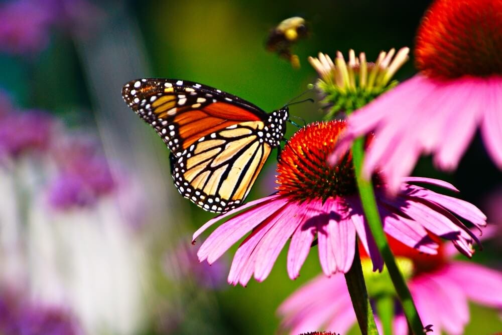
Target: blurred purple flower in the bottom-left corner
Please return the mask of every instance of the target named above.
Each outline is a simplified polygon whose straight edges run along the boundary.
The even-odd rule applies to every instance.
[[[2,335],[77,335],[81,330],[61,306],[29,302],[13,292],[0,293]]]

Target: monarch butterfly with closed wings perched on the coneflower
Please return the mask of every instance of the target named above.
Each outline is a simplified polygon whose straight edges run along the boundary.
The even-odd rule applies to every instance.
[[[180,194],[204,210],[242,204],[286,132],[288,107],[267,114],[209,86],[176,79],[137,79],[122,88],[126,104],[171,150]]]

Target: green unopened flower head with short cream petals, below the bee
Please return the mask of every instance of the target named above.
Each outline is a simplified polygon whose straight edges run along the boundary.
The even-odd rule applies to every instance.
[[[326,119],[338,112],[349,114],[396,86],[397,82],[391,79],[408,60],[408,53],[408,48],[397,54],[394,49],[381,52],[375,63],[367,62],[364,53],[355,57],[353,50],[349,51],[348,63],[339,51],[334,62],[322,53],[317,58],[309,57],[320,77],[315,86],[329,106]]]

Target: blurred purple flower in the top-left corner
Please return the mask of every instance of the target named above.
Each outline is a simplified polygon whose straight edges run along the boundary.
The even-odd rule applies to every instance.
[[[33,54],[49,43],[52,16],[40,2],[10,1],[0,7],[0,51]]]

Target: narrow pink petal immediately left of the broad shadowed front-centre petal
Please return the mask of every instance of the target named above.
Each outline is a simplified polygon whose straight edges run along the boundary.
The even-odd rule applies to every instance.
[[[300,275],[302,267],[310,247],[315,238],[316,225],[312,224],[314,210],[312,204],[305,204],[307,207],[305,213],[300,218],[300,224],[293,233],[288,251],[288,274],[291,279],[295,279]],[[314,205],[315,206],[315,205]],[[317,206],[322,207],[322,204]]]

